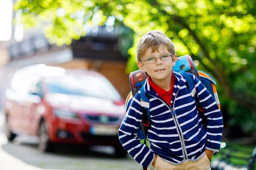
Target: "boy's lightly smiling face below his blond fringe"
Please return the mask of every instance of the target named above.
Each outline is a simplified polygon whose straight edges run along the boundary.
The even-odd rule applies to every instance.
[[[148,64],[146,61],[143,61],[151,57],[162,57],[170,55],[167,47],[164,45],[160,45],[158,51],[156,50],[154,53],[152,53],[152,49],[148,48],[142,58],[142,62],[137,62],[140,70],[142,70],[144,73],[147,72],[154,83],[163,81],[165,79],[171,79],[172,67],[177,61],[177,55],[171,56],[170,59],[165,61],[162,61],[160,58],[156,58],[156,61],[150,64]]]

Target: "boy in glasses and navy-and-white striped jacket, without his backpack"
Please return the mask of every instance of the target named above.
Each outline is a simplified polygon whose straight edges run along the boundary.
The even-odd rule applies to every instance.
[[[118,135],[122,146],[144,167],[156,170],[210,170],[223,131],[222,115],[212,95],[192,74],[196,94],[207,116],[207,127],[179,73],[172,70],[177,55],[172,41],[160,31],[149,31],[137,45],[137,65],[146,75],[151,124],[140,144],[137,129],[143,119],[140,91],[132,99]],[[149,168],[148,168],[149,169]]]

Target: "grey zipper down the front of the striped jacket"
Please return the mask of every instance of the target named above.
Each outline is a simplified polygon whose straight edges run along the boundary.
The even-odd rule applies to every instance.
[[[180,91],[180,89],[177,91],[177,93]],[[175,99],[176,99],[176,96],[177,96],[177,93],[176,93],[176,95],[175,95],[175,98],[174,98],[174,102],[173,102],[173,106],[174,106],[174,103],[175,103]],[[151,95],[151,94],[149,94],[150,96],[153,96],[153,95]],[[155,97],[155,96],[153,96],[153,97]],[[166,104],[166,102],[164,102],[162,99],[160,99],[160,98],[158,98],[157,97],[157,99],[159,99],[161,102],[163,102],[163,104],[165,104],[168,108],[170,108],[167,104]],[[172,111],[175,111],[173,108],[171,108],[170,109],[170,111],[171,111],[171,113],[172,113]],[[182,148],[182,153],[183,153],[183,156],[184,156],[184,158],[185,158],[185,160],[186,159],[188,159],[187,158],[187,153],[186,153],[186,147],[185,147],[185,144],[184,144],[184,139],[183,139],[183,135],[182,135],[182,133],[181,133],[181,130],[180,130],[180,126],[178,126],[178,120],[177,120],[177,116],[176,116],[176,113],[175,113],[175,115],[172,115],[172,117],[173,117],[173,121],[174,121],[174,123],[175,123],[175,126],[176,126],[176,129],[177,129],[177,133],[178,133],[178,135],[179,135],[179,138],[180,138],[180,143],[181,143],[181,148]]]

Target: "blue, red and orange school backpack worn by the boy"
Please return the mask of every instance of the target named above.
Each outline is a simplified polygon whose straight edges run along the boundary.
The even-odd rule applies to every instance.
[[[218,94],[215,88],[215,85],[216,85],[215,80],[204,71],[198,71],[195,67],[195,64],[192,58],[189,55],[177,57],[177,62],[173,67],[173,70],[175,72],[180,73],[183,76],[183,78],[186,79],[185,85],[188,88],[189,93],[195,100],[195,104],[198,108],[198,112],[201,115],[203,125],[207,126],[207,117],[203,114],[204,108],[200,105],[200,102],[198,101],[198,96],[195,95],[196,93],[195,85],[191,76],[188,73],[194,74],[195,77],[197,77],[203,83],[203,85],[207,88],[210,94],[212,94],[213,98],[215,99],[215,102],[218,104],[220,108],[220,102],[219,102]],[[137,131],[137,136],[140,139],[145,139],[145,136],[147,136],[148,126],[150,125],[150,122],[151,122],[150,115],[149,115],[149,97],[144,92],[144,83],[147,79],[147,76],[145,76],[143,71],[137,70],[137,71],[131,72],[129,79],[130,79],[131,92],[127,96],[127,99],[125,102],[125,108],[127,111],[129,106],[131,105],[131,99],[133,98],[133,96],[135,96],[137,92],[140,89],[142,89],[140,91],[140,103],[143,111],[143,121],[140,123],[140,127]],[[146,142],[144,141],[144,143]]]

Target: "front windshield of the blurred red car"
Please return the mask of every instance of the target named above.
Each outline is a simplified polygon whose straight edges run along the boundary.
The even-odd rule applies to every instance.
[[[61,77],[48,77],[46,83],[50,93],[120,100],[119,93],[105,77],[66,74]]]

